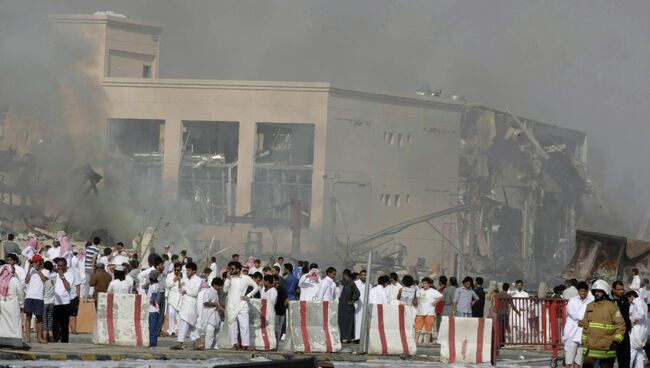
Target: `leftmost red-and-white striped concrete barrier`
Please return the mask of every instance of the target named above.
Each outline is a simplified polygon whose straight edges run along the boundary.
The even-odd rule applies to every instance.
[[[92,342],[149,346],[149,303],[142,295],[100,293]]]

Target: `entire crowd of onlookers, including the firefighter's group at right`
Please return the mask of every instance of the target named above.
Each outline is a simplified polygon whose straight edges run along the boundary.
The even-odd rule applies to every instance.
[[[256,298],[274,308],[278,340],[287,333],[290,301],[337,301],[344,343],[359,342],[363,311],[372,304],[413,307],[415,339],[424,344],[432,342],[442,316],[481,318],[488,312],[506,321],[501,324],[507,329],[501,331],[501,342],[517,342],[518,334],[529,333],[530,327],[530,318],[517,317],[532,315],[530,303],[537,303],[528,300],[522,280],[512,289],[503,283],[487,291],[481,277],[465,277],[459,284],[455,277],[417,280],[390,273],[373,283],[365,270],[345,269],[339,277],[334,267],[321,273],[318,264],[309,261],[291,263],[278,257],[264,264],[248,257],[242,262],[238,254],[221,268],[212,257],[209,266],[199,269],[185,250],[173,254],[166,246],[157,254],[151,249],[141,260],[122,243],[102,247],[99,238],[75,249],[64,232],[48,245],[31,235],[23,247],[10,234],[2,251],[0,331],[25,342],[31,342],[32,330],[39,343],[68,342],[69,333],[76,333],[80,299],[97,303],[100,293],[145,296],[150,345],[156,346],[159,336],[173,336],[177,344],[172,349],[177,350],[186,348],[188,337],[193,349],[216,348],[223,324],[229,327],[232,349],[250,349],[249,300]],[[616,359],[619,366],[641,367],[643,350],[648,349],[649,287],[637,269],[631,270],[627,288],[621,281],[610,287],[603,280],[590,285],[575,279],[556,286],[553,296],[567,300],[562,336],[567,367],[593,366],[596,361],[607,367]],[[517,300],[526,301],[526,307]]]

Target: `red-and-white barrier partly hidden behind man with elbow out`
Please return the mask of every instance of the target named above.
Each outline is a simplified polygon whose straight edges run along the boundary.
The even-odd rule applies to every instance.
[[[248,324],[251,347],[255,350],[270,351],[277,348],[275,336],[275,308],[266,299],[250,299],[248,301]],[[219,349],[230,349],[230,324],[221,325],[217,337]]]

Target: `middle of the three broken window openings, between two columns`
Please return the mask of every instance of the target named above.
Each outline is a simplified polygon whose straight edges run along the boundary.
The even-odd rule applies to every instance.
[[[238,149],[237,122],[183,122],[179,199],[191,203],[196,222],[235,214]]]

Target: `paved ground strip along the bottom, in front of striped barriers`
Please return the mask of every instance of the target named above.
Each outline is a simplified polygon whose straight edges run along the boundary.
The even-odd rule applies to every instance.
[[[31,344],[30,351],[0,350],[0,366],[11,367],[186,367],[192,365],[218,366],[219,364],[250,360],[283,360],[304,357],[305,354],[283,352],[234,352],[227,350],[175,351],[173,338],[161,338],[156,348],[93,345],[90,334],[71,335],[69,344]],[[355,345],[346,345],[340,353],[312,354],[324,366],[342,368],[385,367],[400,368],[448,366],[439,362],[439,348],[418,348],[417,356],[402,358],[357,354]],[[551,356],[534,350],[503,350],[499,366],[535,367],[549,366]],[[31,362],[30,362],[31,361]],[[399,363],[397,362],[399,361]],[[74,362],[74,363],[73,363]],[[85,363],[84,363],[85,362]],[[133,365],[131,365],[133,364]],[[463,365],[457,365],[463,367]]]

